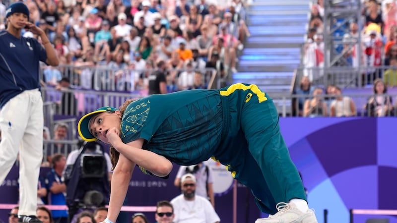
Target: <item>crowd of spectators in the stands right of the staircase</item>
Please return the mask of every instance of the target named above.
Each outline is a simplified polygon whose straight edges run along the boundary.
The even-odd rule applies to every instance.
[[[329,43],[330,39],[334,43],[332,54],[340,55],[331,65],[344,68],[337,71],[324,65],[324,19],[330,19],[324,17],[324,1],[316,0],[310,4],[303,68],[298,78],[300,83],[294,91],[297,96],[293,99],[294,115],[353,116],[358,112],[361,115],[390,116],[396,113],[397,104],[394,105],[394,96],[388,95],[387,89],[397,87],[397,1],[361,0],[361,3],[361,18],[352,14],[347,21],[346,18],[330,21],[333,32],[328,38]],[[325,83],[328,78],[325,75],[337,76],[341,72],[350,75],[346,83],[340,86]],[[316,83],[317,88],[308,84],[311,82]],[[357,105],[362,102],[355,97],[344,96],[340,102],[335,101],[337,95],[352,83],[354,88],[366,88],[373,96],[367,94],[366,101]],[[309,99],[302,97],[304,95]],[[339,105],[340,112],[333,111],[335,105]]]

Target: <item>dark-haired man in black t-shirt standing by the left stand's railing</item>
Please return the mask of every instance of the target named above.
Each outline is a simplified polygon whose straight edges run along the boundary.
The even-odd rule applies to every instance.
[[[167,82],[165,77],[165,62],[160,60],[157,63],[157,70],[149,76],[149,95],[166,94]]]

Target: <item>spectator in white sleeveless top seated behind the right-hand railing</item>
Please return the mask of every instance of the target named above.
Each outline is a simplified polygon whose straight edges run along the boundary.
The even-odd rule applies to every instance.
[[[338,87],[334,87],[334,94],[336,99],[331,103],[331,116],[333,117],[349,117],[355,116],[356,106],[354,105],[353,99],[347,96],[342,96],[342,90]]]

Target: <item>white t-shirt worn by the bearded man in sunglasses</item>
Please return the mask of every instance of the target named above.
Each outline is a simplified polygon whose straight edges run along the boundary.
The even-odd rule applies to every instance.
[[[174,207],[174,223],[215,223],[219,216],[209,201],[196,195],[195,200],[187,201],[181,194],[171,200]]]

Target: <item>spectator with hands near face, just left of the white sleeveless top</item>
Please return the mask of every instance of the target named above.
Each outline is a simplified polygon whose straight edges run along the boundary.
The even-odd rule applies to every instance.
[[[303,116],[305,117],[319,117],[327,116],[328,108],[324,102],[323,89],[315,88],[313,91],[313,98],[306,99],[303,107]]]

